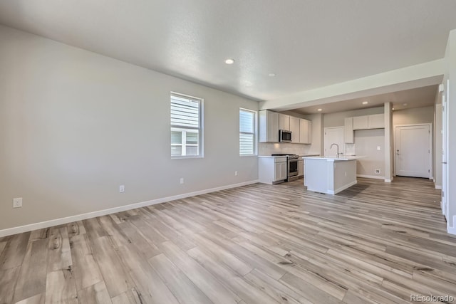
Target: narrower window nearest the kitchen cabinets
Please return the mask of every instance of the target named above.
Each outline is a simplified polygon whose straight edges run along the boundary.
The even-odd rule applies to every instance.
[[[257,112],[239,108],[239,155],[257,154]]]

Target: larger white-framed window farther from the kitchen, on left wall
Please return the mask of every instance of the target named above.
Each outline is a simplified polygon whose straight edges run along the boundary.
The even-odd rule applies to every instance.
[[[171,93],[171,157],[202,157],[202,99]]]

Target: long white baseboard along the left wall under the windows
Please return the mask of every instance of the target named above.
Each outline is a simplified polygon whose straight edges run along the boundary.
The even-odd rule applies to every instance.
[[[199,190],[199,191],[195,191],[195,192],[178,194],[178,195],[175,195],[175,196],[167,196],[167,197],[163,197],[161,199],[152,199],[150,201],[142,201],[140,203],[129,204],[129,205],[118,206],[118,207],[114,207],[114,208],[110,208],[110,209],[103,209],[103,210],[99,210],[99,211],[88,212],[86,214],[78,214],[78,215],[63,217],[61,219],[51,219],[49,221],[41,221],[39,223],[33,223],[33,224],[24,225],[24,226],[18,226],[18,227],[3,229],[3,230],[0,230],[0,237],[11,236],[12,234],[21,234],[23,232],[33,231],[33,230],[36,230],[36,229],[43,229],[43,228],[48,228],[48,227],[52,227],[52,226],[68,224],[68,223],[72,223],[73,221],[81,221],[83,219],[91,219],[91,218],[97,217],[97,216],[103,216],[103,215],[107,215],[107,214],[114,214],[114,213],[117,213],[117,212],[120,212],[120,211],[136,209],[136,208],[140,208],[140,207],[144,207],[144,206],[151,206],[151,205],[155,205],[155,204],[164,203],[165,201],[174,201],[176,199],[185,199],[185,198],[190,197],[190,196],[196,196],[196,195],[200,195],[200,194],[207,194],[207,193],[210,193],[210,192],[216,192],[216,191],[221,191],[221,190],[225,190],[225,189],[242,187],[242,186],[246,186],[248,184],[255,184],[257,182],[259,182],[259,180],[254,180],[254,181],[249,181],[249,182],[242,182],[242,183],[239,183],[239,184],[229,184],[227,186],[222,186],[222,187],[204,189],[204,190]]]

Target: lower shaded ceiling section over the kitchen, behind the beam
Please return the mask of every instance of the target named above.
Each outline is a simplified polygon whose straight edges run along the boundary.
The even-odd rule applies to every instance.
[[[422,88],[401,90],[394,93],[372,95],[368,98],[355,98],[351,100],[338,101],[337,103],[326,103],[324,105],[312,105],[306,108],[294,110],[301,114],[333,113],[363,108],[375,108],[383,106],[384,103],[392,103],[394,110],[410,108],[421,108],[434,105],[438,85],[428,85]],[[367,104],[363,105],[364,102]],[[321,109],[321,111],[318,111]]]

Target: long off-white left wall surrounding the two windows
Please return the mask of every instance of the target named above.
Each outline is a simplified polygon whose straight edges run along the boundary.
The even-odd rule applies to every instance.
[[[204,98],[202,159],[170,158],[170,91]],[[239,107],[258,103],[0,26],[0,230],[256,180]]]

